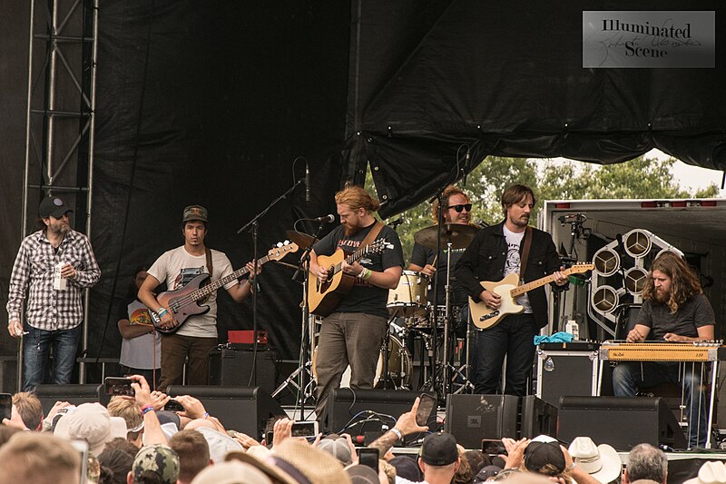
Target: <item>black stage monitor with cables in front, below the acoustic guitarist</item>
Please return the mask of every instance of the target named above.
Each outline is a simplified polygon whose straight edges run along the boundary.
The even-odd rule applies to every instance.
[[[384,424],[393,427],[402,413],[411,410],[419,391],[407,390],[354,390],[334,389],[330,392],[322,431],[347,432],[351,436],[366,432],[380,433]],[[436,397],[436,395],[431,394]],[[436,407],[431,410],[427,421],[431,430],[436,427]],[[407,436],[407,440],[417,440],[417,435]]]

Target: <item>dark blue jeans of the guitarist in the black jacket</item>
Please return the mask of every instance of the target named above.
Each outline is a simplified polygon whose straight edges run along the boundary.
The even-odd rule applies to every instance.
[[[510,314],[494,328],[476,331],[474,391],[491,395],[501,387],[506,355],[505,395],[525,396],[535,361],[535,317]]]

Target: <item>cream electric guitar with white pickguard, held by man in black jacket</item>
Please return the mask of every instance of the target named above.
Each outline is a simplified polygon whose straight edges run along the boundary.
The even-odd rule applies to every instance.
[[[565,275],[574,273],[583,273],[592,271],[594,264],[587,262],[578,262],[569,269],[562,271]],[[537,279],[533,282],[526,282],[525,284],[519,285],[519,274],[512,273],[506,276],[499,282],[481,282],[482,287],[486,291],[496,292],[501,296],[502,304],[497,309],[491,309],[486,307],[484,301],[475,302],[469,298],[469,311],[471,312],[472,321],[477,328],[486,330],[495,326],[502,318],[509,314],[517,314],[522,312],[525,308],[516,303],[516,298],[521,296],[527,291],[532,291],[538,287],[544,286],[554,282],[554,274],[544,276],[542,279]]]

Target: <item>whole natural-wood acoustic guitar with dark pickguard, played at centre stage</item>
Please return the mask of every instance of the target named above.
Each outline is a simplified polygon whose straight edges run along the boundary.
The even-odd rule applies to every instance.
[[[393,249],[393,244],[384,239],[378,239],[370,245],[361,247],[348,257],[346,257],[346,252],[340,248],[333,255],[319,255],[318,265],[328,267],[328,279],[320,282],[316,275],[310,273],[311,277],[308,279],[309,311],[317,316],[328,316],[338,306],[340,298],[348,294],[353,287],[356,278],[342,271],[343,261],[352,264],[368,254],[383,252],[386,249]]]

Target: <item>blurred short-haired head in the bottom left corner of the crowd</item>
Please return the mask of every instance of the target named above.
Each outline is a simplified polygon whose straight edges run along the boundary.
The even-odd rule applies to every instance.
[[[78,484],[81,456],[49,433],[16,432],[0,447],[0,483]]]

